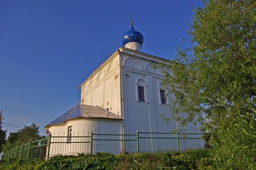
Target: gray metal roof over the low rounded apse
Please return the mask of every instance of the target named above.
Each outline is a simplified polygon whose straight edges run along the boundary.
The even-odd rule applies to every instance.
[[[46,125],[57,125],[62,124],[68,119],[74,118],[108,118],[108,119],[122,119],[120,116],[117,116],[111,112],[109,112],[109,116],[107,116],[106,109],[100,108],[100,106],[91,106],[91,105],[81,105],[77,104],[69,111],[65,112],[65,114],[61,115],[50,124]]]

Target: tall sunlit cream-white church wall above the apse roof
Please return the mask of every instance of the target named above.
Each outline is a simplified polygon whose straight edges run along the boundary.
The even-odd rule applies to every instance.
[[[81,104],[109,108],[121,116],[120,56],[104,63],[81,88]]]

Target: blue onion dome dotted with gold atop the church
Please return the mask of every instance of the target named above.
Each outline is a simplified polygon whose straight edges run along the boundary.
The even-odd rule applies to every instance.
[[[136,31],[133,28],[133,25],[132,25],[132,28],[128,32],[124,33],[122,37],[123,45],[126,45],[129,42],[137,42],[140,45],[142,45],[143,41],[144,41],[143,35],[140,32]]]

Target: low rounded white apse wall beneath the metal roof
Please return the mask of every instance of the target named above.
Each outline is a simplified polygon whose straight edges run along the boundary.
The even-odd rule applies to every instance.
[[[72,142],[76,143],[67,143],[68,126],[72,126]],[[78,118],[67,121],[65,122],[65,124],[60,126],[51,126],[49,128],[49,131],[52,134],[50,156],[90,153],[91,132],[93,132],[93,134],[121,134],[122,120],[102,118]],[[109,138],[121,139],[121,136],[94,135],[94,139]],[[122,144],[120,141],[93,141],[93,152],[99,151],[120,153],[122,151]]]

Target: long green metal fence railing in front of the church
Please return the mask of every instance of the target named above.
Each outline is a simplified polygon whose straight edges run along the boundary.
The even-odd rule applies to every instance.
[[[139,132],[136,134],[97,134],[52,136],[29,141],[2,155],[7,158],[46,158],[55,155],[94,154],[96,152],[185,151],[205,148],[205,134]]]

